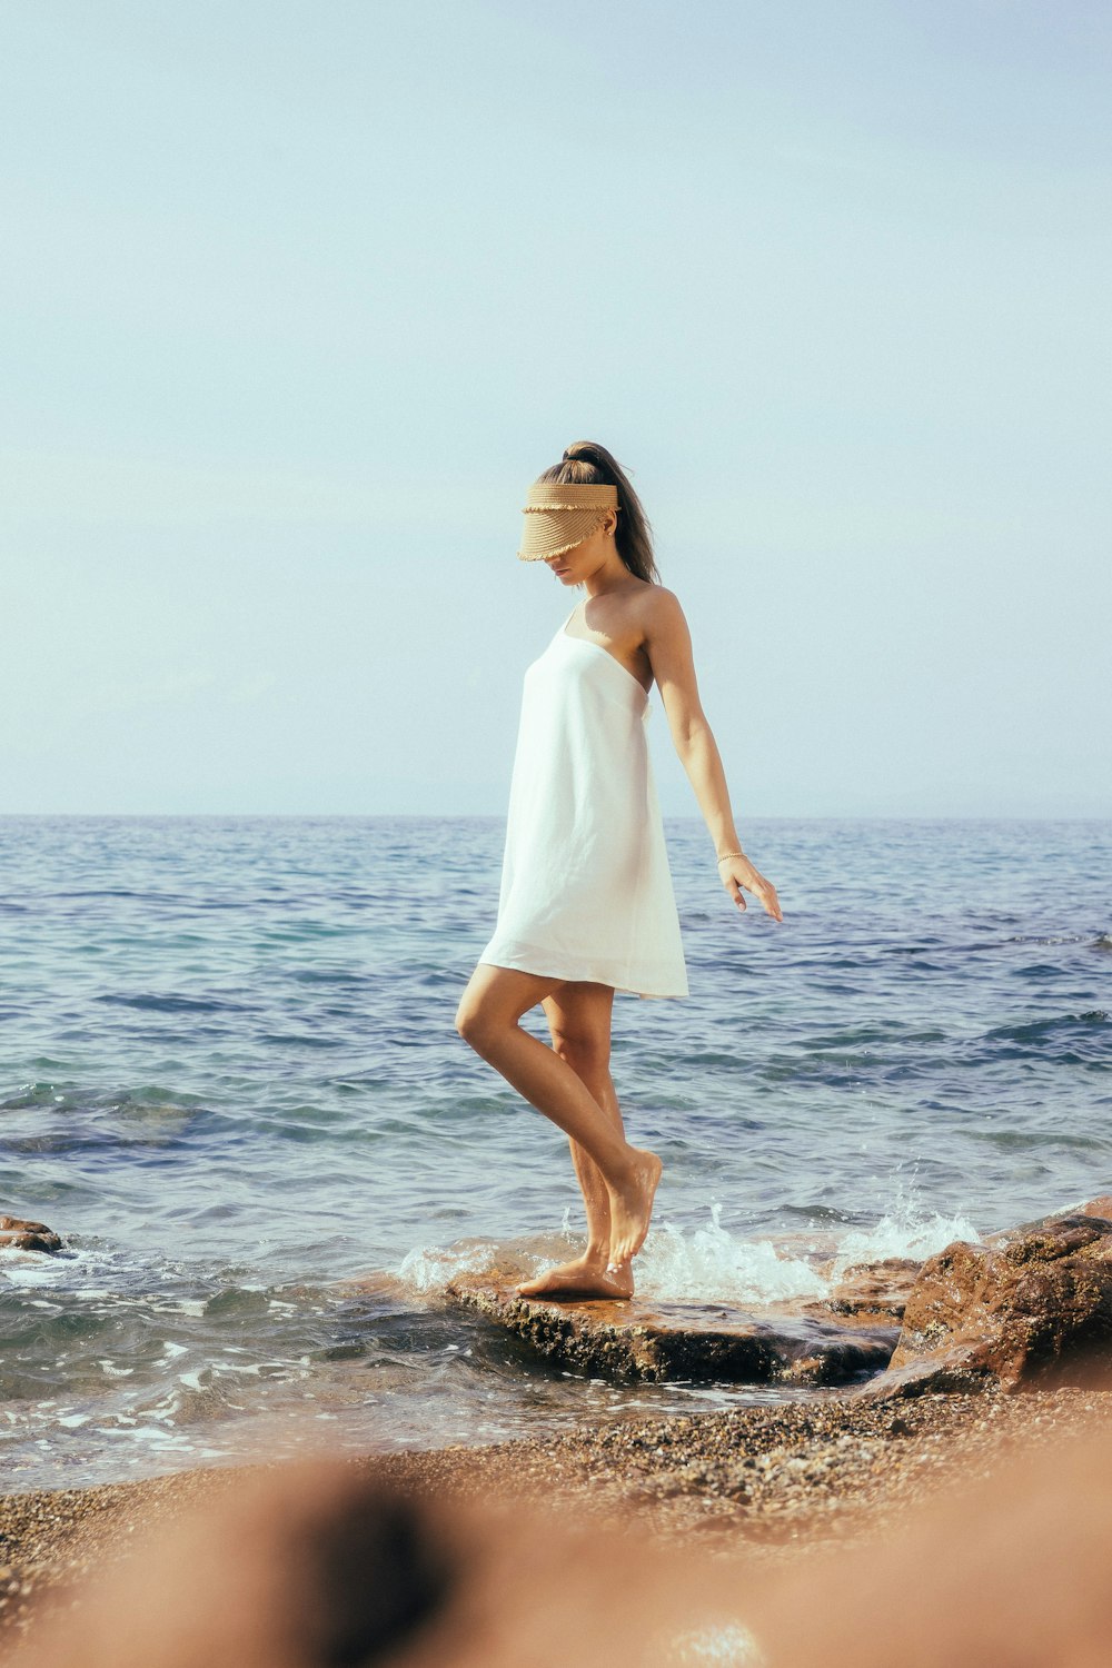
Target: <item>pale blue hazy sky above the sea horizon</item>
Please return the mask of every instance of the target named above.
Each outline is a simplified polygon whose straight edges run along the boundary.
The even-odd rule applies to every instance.
[[[747,814],[1112,814],[1112,10],[0,5],[0,809],[502,812],[635,472]],[[664,714],[665,811],[695,814]]]

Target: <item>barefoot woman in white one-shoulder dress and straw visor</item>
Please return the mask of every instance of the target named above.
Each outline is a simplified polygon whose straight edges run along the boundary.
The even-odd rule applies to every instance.
[[[630,1298],[660,1159],[625,1139],[610,1079],[614,992],[687,996],[644,732],[654,681],[722,884],[739,909],[749,891],[775,921],[782,914],[740,849],[684,610],[660,585],[645,514],[604,447],[580,440],[538,475],[518,555],[582,585],[587,600],[525,674],[498,922],[455,1024],[567,1133],[587,1206],[584,1253],[517,1289]],[[552,1048],[518,1024],[537,1002]]]

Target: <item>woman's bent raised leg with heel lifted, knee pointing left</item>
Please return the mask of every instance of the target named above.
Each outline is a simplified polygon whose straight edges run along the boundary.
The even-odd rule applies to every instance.
[[[460,999],[455,1027],[500,1071],[518,1094],[584,1148],[602,1174],[610,1206],[610,1261],[620,1266],[640,1251],[660,1181],[655,1153],[632,1148],[587,1084],[518,1021],[565,984],[512,967],[480,962]]]

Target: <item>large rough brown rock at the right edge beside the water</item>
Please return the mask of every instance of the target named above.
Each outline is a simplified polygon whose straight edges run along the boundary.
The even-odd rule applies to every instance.
[[[1085,1386],[1112,1373],[1112,1199],[929,1258],[869,1396]]]

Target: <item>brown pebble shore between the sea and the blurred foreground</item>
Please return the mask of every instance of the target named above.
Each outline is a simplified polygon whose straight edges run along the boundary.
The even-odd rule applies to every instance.
[[[522,1500],[577,1521],[692,1536],[714,1555],[784,1561],[867,1541],[947,1481],[1104,1424],[1112,1391],[829,1398],[694,1418],[639,1419],[547,1438],[353,1460],[418,1493]],[[95,1576],[137,1536],[202,1501],[242,1468],[0,1498],[0,1626],[25,1630],[60,1586]]]

